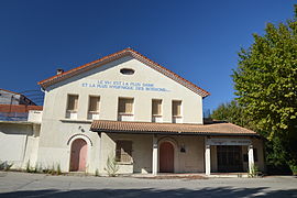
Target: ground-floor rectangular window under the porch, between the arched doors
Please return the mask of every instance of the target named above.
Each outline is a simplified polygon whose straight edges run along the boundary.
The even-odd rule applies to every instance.
[[[132,141],[117,141],[116,161],[132,163]]]

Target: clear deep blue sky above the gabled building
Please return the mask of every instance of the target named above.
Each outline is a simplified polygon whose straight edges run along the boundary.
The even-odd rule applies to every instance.
[[[1,0],[0,88],[37,81],[132,47],[211,92],[205,109],[234,98],[240,47],[267,22],[294,15],[293,0]]]

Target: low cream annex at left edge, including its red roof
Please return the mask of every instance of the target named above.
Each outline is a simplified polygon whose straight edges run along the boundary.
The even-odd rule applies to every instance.
[[[0,105],[0,162],[12,163],[13,168],[26,168],[28,163],[35,167],[42,107]]]

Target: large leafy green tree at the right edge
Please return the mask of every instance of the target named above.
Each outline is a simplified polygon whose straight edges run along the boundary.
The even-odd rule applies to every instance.
[[[295,19],[268,23],[263,36],[239,53],[237,100],[262,135],[268,163],[297,163],[297,7]]]

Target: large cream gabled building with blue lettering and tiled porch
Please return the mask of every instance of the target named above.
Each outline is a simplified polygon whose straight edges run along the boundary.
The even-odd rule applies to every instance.
[[[119,174],[264,170],[263,142],[231,123],[204,123],[209,92],[127,48],[40,81],[36,163]]]

